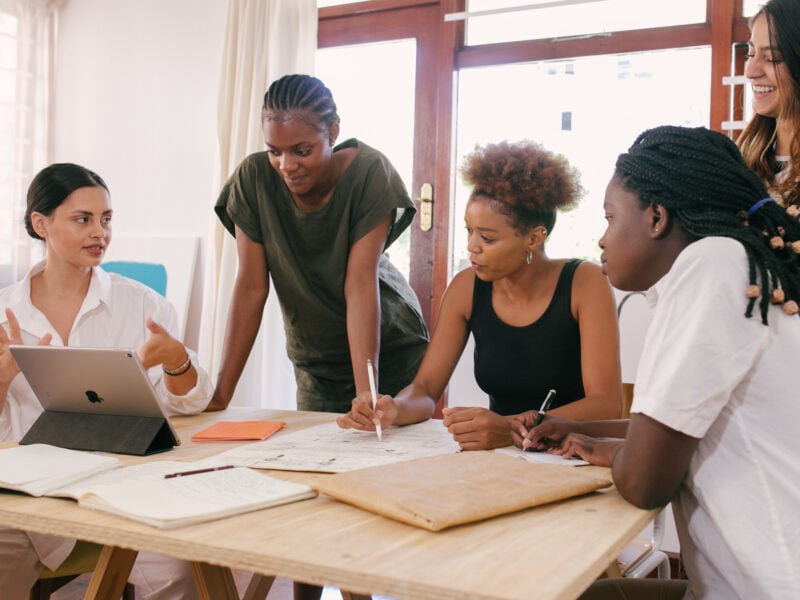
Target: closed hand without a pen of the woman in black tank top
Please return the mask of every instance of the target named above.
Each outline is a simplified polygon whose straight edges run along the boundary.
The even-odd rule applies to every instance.
[[[512,417],[486,408],[445,408],[444,426],[462,450],[491,450],[510,446]]]

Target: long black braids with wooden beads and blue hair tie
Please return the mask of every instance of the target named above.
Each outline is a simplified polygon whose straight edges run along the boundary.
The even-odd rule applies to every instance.
[[[759,298],[765,325],[771,302],[798,313],[800,210],[769,198],[731,139],[704,127],[656,127],[619,155],[615,175],[643,205],[668,208],[692,237],[729,237],[744,246],[746,317]]]

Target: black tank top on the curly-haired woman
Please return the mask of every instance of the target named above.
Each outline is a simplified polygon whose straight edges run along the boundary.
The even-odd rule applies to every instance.
[[[469,328],[475,338],[475,380],[501,415],[538,410],[550,389],[550,408],[583,398],[581,336],[572,316],[572,279],[580,259],[564,264],[550,305],[537,321],[507,325],[492,307],[492,284],[475,278]]]

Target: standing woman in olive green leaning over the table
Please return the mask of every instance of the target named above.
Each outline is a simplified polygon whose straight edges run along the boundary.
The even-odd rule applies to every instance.
[[[384,251],[415,208],[389,160],[336,144],[339,115],[316,77],[286,75],[264,95],[266,151],[245,158],[215,210],[239,267],[210,409],[228,406],[269,294],[278,294],[300,410],[346,412],[376,381],[396,393],[428,342],[419,302]]]

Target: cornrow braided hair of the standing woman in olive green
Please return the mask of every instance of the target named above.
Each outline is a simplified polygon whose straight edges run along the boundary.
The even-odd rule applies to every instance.
[[[325,131],[339,122],[333,94],[322,81],[310,75],[284,75],[272,82],[264,94],[261,120],[284,119],[286,113],[305,111],[317,117],[309,123]],[[279,116],[281,115],[281,116]]]

